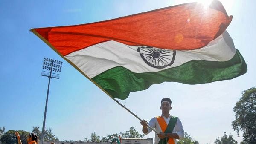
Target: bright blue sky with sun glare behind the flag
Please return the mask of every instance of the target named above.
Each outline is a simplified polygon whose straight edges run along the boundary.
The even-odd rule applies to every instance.
[[[44,57],[62,60],[60,79],[52,79],[46,127],[60,139],[83,140],[92,132],[103,137],[141,130],[140,122],[36,37],[31,28],[76,25],[109,20],[191,0],[44,0],[0,1],[0,127],[31,131],[42,127],[48,79],[42,77]],[[187,85],[165,82],[132,92],[120,102],[147,121],[160,115],[160,100],[172,99],[171,114],[200,143],[213,143],[224,132],[237,141],[231,122],[243,90],[255,86],[255,6],[253,0],[222,0],[233,21],[227,28],[248,71],[233,80]],[[141,132],[141,131],[140,131]],[[154,137],[154,133],[145,138]]]

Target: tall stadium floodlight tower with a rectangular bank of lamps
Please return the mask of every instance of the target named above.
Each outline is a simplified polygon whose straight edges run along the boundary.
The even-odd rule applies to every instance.
[[[41,144],[43,144],[43,141],[44,141],[44,126],[45,126],[45,118],[46,118],[46,112],[47,112],[50,80],[51,78],[57,78],[57,79],[60,78],[59,73],[61,72],[61,67],[62,67],[62,61],[53,60],[50,58],[44,58],[43,70],[41,72],[41,75],[48,77],[49,82],[48,82],[47,96],[46,96],[45,109],[44,109],[44,122],[43,122],[42,135],[41,135]]]

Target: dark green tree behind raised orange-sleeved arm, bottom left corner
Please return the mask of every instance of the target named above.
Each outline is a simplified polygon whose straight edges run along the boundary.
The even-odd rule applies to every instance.
[[[24,130],[17,130],[20,134],[20,140],[23,144],[27,143],[27,136],[29,135],[29,132],[26,132]],[[17,137],[15,135],[15,130],[8,130],[6,133],[4,133],[1,137],[2,144],[18,144]]]

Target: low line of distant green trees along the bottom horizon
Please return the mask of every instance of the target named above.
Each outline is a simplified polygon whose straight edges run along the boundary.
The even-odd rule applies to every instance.
[[[38,135],[38,138],[41,138],[40,127],[33,127],[32,132]],[[5,127],[0,127],[0,140],[2,144],[17,144],[17,138],[15,136],[16,130],[8,130],[5,132]],[[23,144],[26,144],[26,138],[29,132],[24,130],[17,130],[20,133],[20,139]],[[199,144],[199,142],[187,133],[185,133],[185,137],[183,139],[179,139],[177,144]],[[111,142],[113,138],[144,138],[144,134],[140,134],[134,127],[130,127],[128,131],[109,134],[105,137],[100,138],[96,134],[96,132],[91,133],[90,139],[84,138],[86,142]],[[52,128],[46,128],[44,133],[44,141],[59,141],[59,139],[53,134]],[[221,139],[216,139],[215,144],[237,144],[237,141],[233,139],[232,135],[227,136],[226,132],[224,132],[224,136]]]

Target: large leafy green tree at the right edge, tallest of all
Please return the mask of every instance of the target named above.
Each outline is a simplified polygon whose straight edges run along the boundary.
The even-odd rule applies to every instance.
[[[232,122],[233,129],[239,135],[243,132],[243,141],[246,144],[255,144],[256,140],[256,88],[250,88],[242,92],[242,97],[234,107],[235,120]]]

